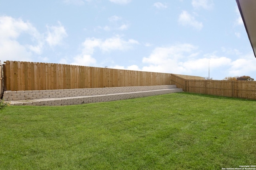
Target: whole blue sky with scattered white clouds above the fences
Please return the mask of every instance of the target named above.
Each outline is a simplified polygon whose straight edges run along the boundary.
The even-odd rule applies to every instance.
[[[256,78],[236,0],[0,0],[0,60]]]

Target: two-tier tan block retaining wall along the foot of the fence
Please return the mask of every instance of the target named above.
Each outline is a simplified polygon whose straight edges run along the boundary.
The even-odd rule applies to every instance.
[[[62,106],[109,102],[182,92],[176,85],[84,88],[62,90],[6,91],[4,100],[11,105]]]

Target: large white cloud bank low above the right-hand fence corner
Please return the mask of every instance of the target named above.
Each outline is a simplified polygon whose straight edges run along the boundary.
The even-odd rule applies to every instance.
[[[237,49],[222,47],[222,55],[213,53],[201,54],[202,51],[192,44],[177,44],[168,47],[156,47],[148,57],[142,59],[144,66],[120,66],[112,68],[141,70],[149,72],[166,72],[174,74],[210,76],[222,80],[225,76],[248,75],[254,78],[254,54],[242,55]],[[227,56],[232,56],[229,58]],[[234,57],[238,59],[234,59]],[[233,60],[232,60],[233,59]],[[210,63],[210,67],[209,67]],[[250,75],[251,74],[251,75]],[[222,76],[223,77],[216,77]]]

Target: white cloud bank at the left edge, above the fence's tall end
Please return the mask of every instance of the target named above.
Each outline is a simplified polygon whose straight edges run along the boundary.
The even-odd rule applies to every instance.
[[[47,57],[40,57],[46,44],[60,45],[67,34],[60,23],[46,27],[48,32],[40,33],[29,21],[0,16],[0,60],[47,61]]]

